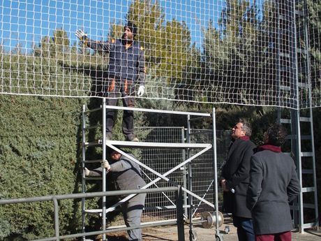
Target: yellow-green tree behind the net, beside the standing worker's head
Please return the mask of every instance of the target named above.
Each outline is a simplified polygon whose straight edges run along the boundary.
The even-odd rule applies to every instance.
[[[167,82],[181,81],[186,66],[191,65],[191,32],[185,22],[165,21],[159,1],[135,0],[126,19],[138,29],[138,41],[145,49],[148,69]]]

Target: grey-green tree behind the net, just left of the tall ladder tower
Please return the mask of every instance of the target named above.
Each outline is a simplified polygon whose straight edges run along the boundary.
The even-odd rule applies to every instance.
[[[229,0],[218,26],[209,22],[204,30],[202,86],[215,91],[207,95],[207,101],[275,102],[275,16],[269,1],[260,8],[246,0]]]

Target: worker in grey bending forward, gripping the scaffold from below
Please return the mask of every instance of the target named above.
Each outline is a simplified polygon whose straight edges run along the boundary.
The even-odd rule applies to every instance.
[[[137,163],[114,150],[110,151],[110,158],[110,164],[105,161],[100,168],[94,170],[85,168],[84,174],[87,177],[100,177],[103,173],[103,168],[106,168],[107,175],[112,175],[112,180],[114,180],[119,190],[141,189],[146,185],[146,182],[142,179],[140,166]],[[140,226],[140,217],[142,216],[145,197],[146,193],[140,193],[121,205],[121,212],[127,227]],[[128,240],[142,241],[141,229],[133,229],[127,231],[127,233]]]

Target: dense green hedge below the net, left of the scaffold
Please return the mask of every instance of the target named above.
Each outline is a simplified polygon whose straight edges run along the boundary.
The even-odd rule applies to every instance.
[[[1,198],[79,192],[81,100],[0,95]],[[60,205],[61,233],[80,222],[72,200]],[[54,235],[52,202],[0,206],[0,240]]]

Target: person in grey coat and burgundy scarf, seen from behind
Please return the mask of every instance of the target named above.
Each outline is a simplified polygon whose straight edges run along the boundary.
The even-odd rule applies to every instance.
[[[293,159],[281,152],[285,136],[281,125],[269,127],[264,145],[251,158],[246,203],[257,241],[291,240],[289,203],[299,194],[300,186]]]

